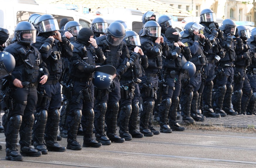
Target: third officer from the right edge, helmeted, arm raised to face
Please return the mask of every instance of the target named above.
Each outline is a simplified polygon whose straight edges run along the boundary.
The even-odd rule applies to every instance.
[[[233,62],[235,61],[235,52],[243,51],[243,41],[236,31],[236,24],[231,19],[223,20],[220,29],[223,31],[223,37],[219,38],[220,45],[225,51],[225,56],[221,58],[218,64],[216,85],[218,89],[215,92],[213,110],[219,113],[221,117],[237,115],[237,111],[231,108],[231,96],[233,93]],[[235,36],[237,47],[235,47],[232,36]],[[223,101],[225,99],[225,101]]]

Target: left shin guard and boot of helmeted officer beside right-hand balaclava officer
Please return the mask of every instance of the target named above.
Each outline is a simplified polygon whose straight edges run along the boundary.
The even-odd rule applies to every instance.
[[[143,111],[140,111],[140,132],[144,134],[144,136],[153,136],[153,132],[148,128],[148,122],[150,118],[150,113],[152,112],[154,107],[153,101],[145,101],[143,103]]]

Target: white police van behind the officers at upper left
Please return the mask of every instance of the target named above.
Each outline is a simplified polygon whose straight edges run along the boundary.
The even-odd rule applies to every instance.
[[[1,2],[0,6],[0,27],[8,29],[13,34],[15,26],[21,21],[27,21],[33,13],[40,15],[50,14],[60,23],[60,20],[67,18],[69,21],[79,22],[82,27],[91,27],[91,20],[84,17],[75,9],[77,6],[69,4],[37,4],[28,0],[9,0]],[[77,8],[78,9],[78,8]],[[60,24],[59,24],[60,25]]]

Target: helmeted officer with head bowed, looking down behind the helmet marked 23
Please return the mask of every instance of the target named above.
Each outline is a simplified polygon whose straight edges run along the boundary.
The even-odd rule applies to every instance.
[[[119,78],[129,67],[128,59],[130,57],[126,43],[123,38],[125,29],[119,22],[109,24],[106,36],[96,38],[96,43],[102,49],[106,61],[104,65],[112,65],[116,68],[116,74],[113,76],[112,85],[108,89],[94,90],[94,127],[96,130],[96,140],[102,145],[110,145],[112,142],[122,143],[125,140],[116,134],[116,120],[119,110],[120,83]],[[104,134],[104,120],[106,115],[107,136]]]

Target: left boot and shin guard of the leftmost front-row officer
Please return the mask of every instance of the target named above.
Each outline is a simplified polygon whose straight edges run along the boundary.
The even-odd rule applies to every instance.
[[[6,160],[21,161],[23,160],[22,155],[17,150],[19,129],[21,127],[22,116],[16,115],[11,117],[5,125],[6,129]]]

